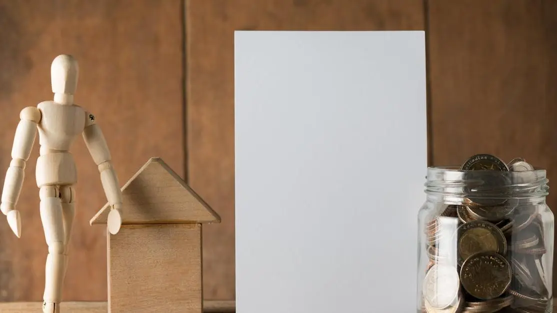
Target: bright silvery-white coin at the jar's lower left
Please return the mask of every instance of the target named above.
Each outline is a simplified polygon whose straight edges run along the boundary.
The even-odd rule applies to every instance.
[[[423,281],[423,296],[436,309],[444,309],[458,297],[458,271],[450,265],[433,265]]]

